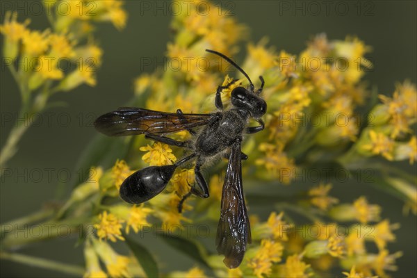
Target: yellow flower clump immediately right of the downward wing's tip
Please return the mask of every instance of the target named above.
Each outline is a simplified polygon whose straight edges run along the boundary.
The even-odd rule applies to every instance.
[[[248,261],[247,265],[254,270],[256,277],[262,278],[263,275],[270,275],[272,272],[272,263],[281,261],[284,247],[281,243],[272,240],[263,239],[261,247],[255,256]]]

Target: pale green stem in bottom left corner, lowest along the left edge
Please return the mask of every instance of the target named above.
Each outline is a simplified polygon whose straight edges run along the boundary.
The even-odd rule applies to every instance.
[[[24,263],[26,265],[36,266],[38,268],[46,268],[49,270],[56,270],[72,275],[82,276],[85,272],[84,268],[78,265],[69,265],[67,263],[59,263],[48,259],[35,258],[33,256],[26,256],[22,254],[0,252],[0,259],[15,261],[16,263]]]

